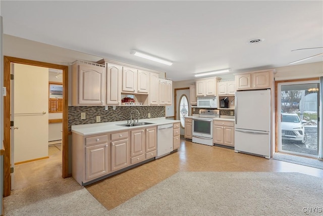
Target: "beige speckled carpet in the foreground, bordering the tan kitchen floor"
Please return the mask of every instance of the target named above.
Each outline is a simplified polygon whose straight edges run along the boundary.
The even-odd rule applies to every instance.
[[[16,190],[5,215],[319,215],[323,180],[297,172],[178,172],[108,211],[72,178]],[[306,212],[305,212],[306,211]]]

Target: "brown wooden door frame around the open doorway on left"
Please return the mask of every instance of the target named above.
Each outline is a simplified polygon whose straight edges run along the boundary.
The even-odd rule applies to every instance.
[[[47,67],[63,70],[63,161],[62,177],[69,177],[68,174],[68,66],[57,65],[27,59],[4,56],[4,87],[7,89],[7,96],[4,97],[4,196],[11,194],[11,63],[19,63],[38,67]]]

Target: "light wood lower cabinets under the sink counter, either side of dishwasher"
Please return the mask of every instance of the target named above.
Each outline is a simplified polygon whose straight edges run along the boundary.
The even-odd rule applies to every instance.
[[[180,124],[174,124],[174,149],[180,145]],[[178,130],[178,131],[177,131]],[[156,156],[157,127],[147,126],[99,135],[72,133],[72,176],[80,184]]]

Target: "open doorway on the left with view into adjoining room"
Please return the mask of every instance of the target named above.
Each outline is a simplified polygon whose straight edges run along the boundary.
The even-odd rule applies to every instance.
[[[17,63],[11,69],[11,189],[16,190],[62,177],[63,71]]]

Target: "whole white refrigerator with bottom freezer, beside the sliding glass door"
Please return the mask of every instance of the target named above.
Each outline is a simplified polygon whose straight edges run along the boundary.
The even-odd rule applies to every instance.
[[[271,157],[271,90],[235,94],[235,152]]]

